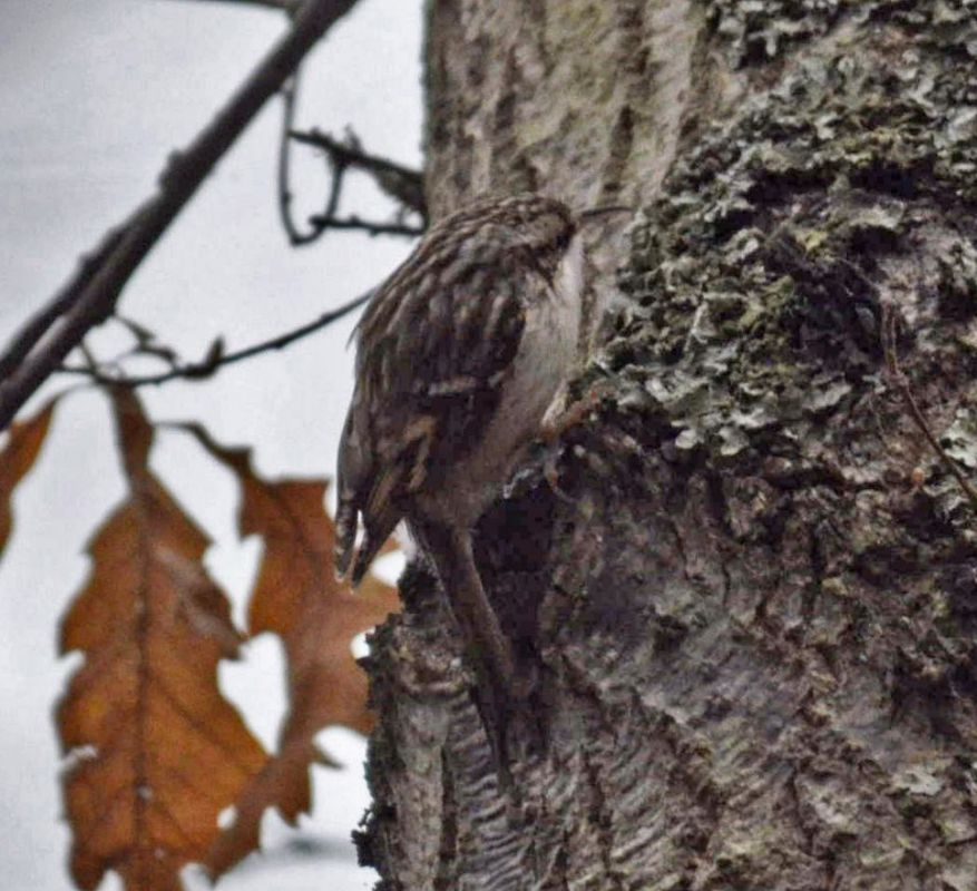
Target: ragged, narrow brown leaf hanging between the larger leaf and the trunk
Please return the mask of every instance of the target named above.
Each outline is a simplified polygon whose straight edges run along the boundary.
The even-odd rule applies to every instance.
[[[316,733],[334,724],[360,733],[372,728],[367,676],[350,645],[399,609],[400,603],[397,590],[375,577],[368,577],[355,594],[336,581],[335,528],[325,511],[324,480],[268,482],[254,472],[246,450],[218,446],[199,427],[186,429],[241,483],[241,535],[264,539],[250,630],[277,634],[289,668],[289,713],[279,752],[238,800],[234,824],[207,858],[212,874],[219,875],[258,846],[265,809],[276,807],[292,824],[309,812],[309,767],[313,762],[329,763],[315,747]]]

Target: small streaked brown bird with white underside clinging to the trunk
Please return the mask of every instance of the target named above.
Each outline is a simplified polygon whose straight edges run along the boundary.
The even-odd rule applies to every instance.
[[[589,213],[608,209],[625,208]],[[358,585],[406,520],[477,675],[516,697],[527,685],[486,596],[472,529],[577,368],[584,282],[582,215],[539,194],[489,196],[424,234],[353,334],[338,575]]]

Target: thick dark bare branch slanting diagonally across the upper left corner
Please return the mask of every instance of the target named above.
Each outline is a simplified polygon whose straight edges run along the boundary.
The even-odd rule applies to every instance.
[[[96,255],[19,332],[0,369],[0,430],[55,372],[85,334],[114,311],[136,267],[194,195],[242,130],[273,96],[305,53],[356,0],[307,0],[289,33],[257,66],[213,121],[183,153],[174,155],[159,189],[110,234]]]

